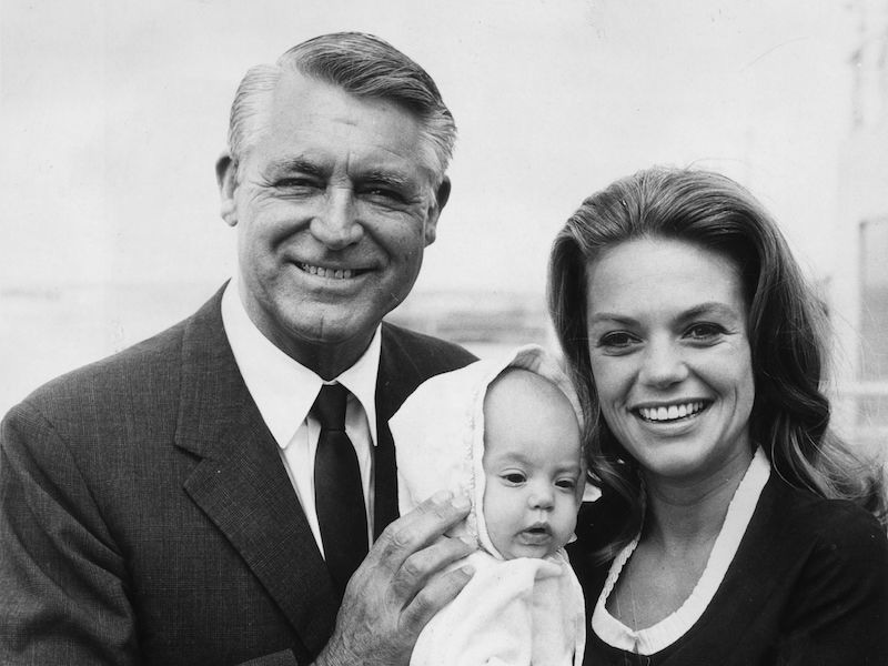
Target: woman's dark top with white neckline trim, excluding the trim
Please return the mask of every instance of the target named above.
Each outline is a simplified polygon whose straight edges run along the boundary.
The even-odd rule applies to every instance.
[[[848,502],[797,491],[771,472],[709,606],[653,655],[605,644],[589,618],[610,563],[589,553],[613,525],[608,497],[584,506],[571,562],[586,597],[584,664],[594,666],[888,664],[888,539]]]

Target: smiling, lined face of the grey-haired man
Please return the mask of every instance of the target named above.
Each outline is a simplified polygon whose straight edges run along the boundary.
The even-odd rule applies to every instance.
[[[310,367],[334,354],[340,372],[407,295],[435,238],[441,206],[420,124],[390,102],[295,73],[271,104],[236,182],[222,182],[241,299],[284,352]]]

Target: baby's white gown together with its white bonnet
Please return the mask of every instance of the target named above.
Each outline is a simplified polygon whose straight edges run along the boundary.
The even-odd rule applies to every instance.
[[[440,490],[463,492],[472,512],[450,536],[477,544],[466,559],[475,574],[426,625],[411,666],[578,666],[586,639],[583,592],[567,554],[503,559],[480,511],[484,498],[484,396],[509,366],[555,383],[579,406],[567,377],[542,347],[477,361],[423,383],[391,420],[401,514]],[[592,498],[596,488],[587,488]]]

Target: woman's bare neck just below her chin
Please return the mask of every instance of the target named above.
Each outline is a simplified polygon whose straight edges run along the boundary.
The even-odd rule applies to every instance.
[[[694,480],[645,475],[645,541],[666,551],[690,551],[718,536],[734,493],[753,461],[743,450],[713,474]]]

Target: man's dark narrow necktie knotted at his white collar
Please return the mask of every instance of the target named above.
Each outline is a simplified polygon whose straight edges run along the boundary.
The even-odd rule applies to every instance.
[[[324,558],[342,597],[349,578],[367,554],[367,517],[357,456],[345,434],[349,390],[324,384],[311,414],[321,424],[314,456],[314,502]]]

